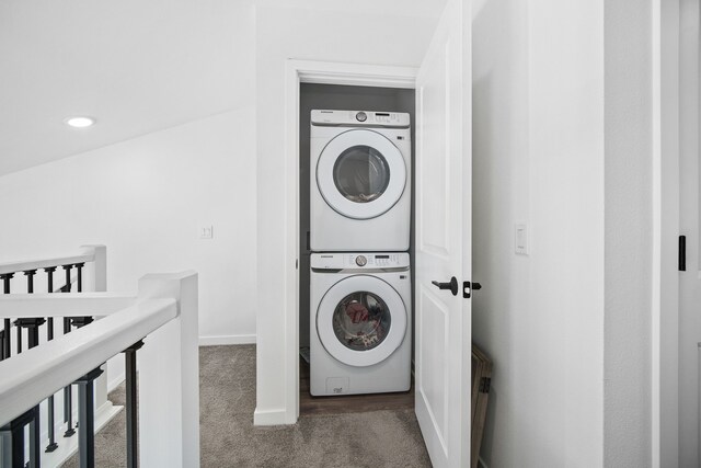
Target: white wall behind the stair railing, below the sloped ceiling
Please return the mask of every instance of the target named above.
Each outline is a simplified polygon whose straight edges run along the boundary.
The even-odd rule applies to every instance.
[[[108,290],[199,273],[205,343],[252,342],[255,123],[244,107],[0,178],[0,259],[107,246]],[[198,227],[214,226],[214,239]]]

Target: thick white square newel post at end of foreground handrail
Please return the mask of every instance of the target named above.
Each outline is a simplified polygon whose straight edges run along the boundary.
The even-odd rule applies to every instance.
[[[138,298],[179,305],[177,317],[146,336],[137,355],[139,466],[199,467],[197,273],[146,275]]]

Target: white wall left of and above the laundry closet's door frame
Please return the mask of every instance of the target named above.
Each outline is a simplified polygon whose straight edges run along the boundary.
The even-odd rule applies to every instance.
[[[401,10],[398,10],[401,11]],[[257,423],[292,422],[285,400],[284,70],[288,58],[418,66],[435,19],[257,4]],[[294,167],[292,167],[294,168]],[[291,170],[296,170],[295,168]],[[295,216],[294,214],[291,214]]]

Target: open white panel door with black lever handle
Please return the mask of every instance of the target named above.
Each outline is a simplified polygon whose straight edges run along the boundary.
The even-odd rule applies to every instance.
[[[471,47],[448,0],[416,79],[416,418],[436,468],[470,466]],[[458,281],[458,292],[436,281]]]

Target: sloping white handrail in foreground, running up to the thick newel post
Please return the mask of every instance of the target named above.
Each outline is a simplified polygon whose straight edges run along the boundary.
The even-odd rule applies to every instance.
[[[3,361],[0,425],[105,363],[177,316],[175,299],[150,299]]]

